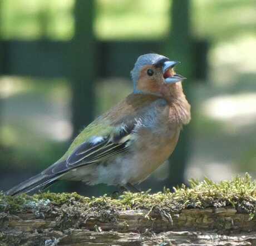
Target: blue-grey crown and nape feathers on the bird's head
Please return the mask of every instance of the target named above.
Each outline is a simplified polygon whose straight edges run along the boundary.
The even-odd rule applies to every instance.
[[[139,56],[139,58],[137,59],[134,65],[134,69],[132,69],[131,71],[131,78],[132,78],[132,81],[134,82],[134,87],[136,87],[137,85],[141,68],[144,67],[145,65],[155,64],[156,62],[158,62],[160,59],[163,59],[163,58],[166,58],[166,57],[161,56],[160,54],[154,54],[154,53],[144,54],[142,56]]]

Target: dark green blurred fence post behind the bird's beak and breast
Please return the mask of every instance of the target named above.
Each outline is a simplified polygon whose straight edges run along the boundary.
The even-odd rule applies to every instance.
[[[194,75],[193,54],[191,47],[193,41],[190,33],[190,4],[189,0],[172,1],[171,6],[171,33],[166,42],[165,51],[170,59],[180,61],[177,70],[188,79],[183,82],[186,97],[190,103],[191,79]],[[189,153],[189,127],[185,126],[175,152],[170,158],[170,174],[166,182],[167,187],[184,182],[184,171]]]

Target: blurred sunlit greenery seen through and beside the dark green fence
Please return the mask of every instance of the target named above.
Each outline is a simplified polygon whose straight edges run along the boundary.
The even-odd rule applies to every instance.
[[[228,96],[233,103],[231,109],[238,112],[234,104],[239,99],[236,96],[244,93],[246,99],[249,93],[250,96],[256,93],[255,0],[191,2],[191,34],[194,38],[206,38],[211,47],[208,54],[210,83],[195,84],[193,91],[194,138],[190,164],[198,165],[201,170],[200,175],[190,170],[187,175],[199,178],[214,175],[199,165],[200,162],[210,165],[211,160],[228,164],[229,175],[249,170],[256,176],[254,114],[246,123],[244,114],[219,119],[203,110],[210,99]],[[73,0],[0,0],[0,37],[70,40],[74,33],[73,6]],[[168,0],[97,0],[95,36],[103,40],[163,40],[171,26],[170,7]],[[40,170],[60,158],[69,142],[68,131],[72,131],[68,128],[71,118],[68,82],[63,78],[3,77],[0,84],[2,168],[11,170],[15,165]],[[131,88],[130,82],[120,78],[96,83],[96,115],[119,102]],[[224,106],[223,103],[220,109]],[[250,106],[253,107],[245,108]],[[238,123],[238,119],[242,119],[244,125]],[[47,128],[52,128],[53,132]],[[61,135],[66,137],[60,138]],[[225,172],[218,170],[216,173]]]

